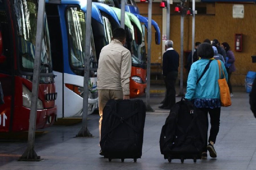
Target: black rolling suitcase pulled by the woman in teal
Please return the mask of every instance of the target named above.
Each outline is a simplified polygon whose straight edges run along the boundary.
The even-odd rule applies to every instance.
[[[160,151],[164,159],[201,159],[206,142],[207,122],[193,112],[193,104],[181,98],[170,110],[160,135]]]

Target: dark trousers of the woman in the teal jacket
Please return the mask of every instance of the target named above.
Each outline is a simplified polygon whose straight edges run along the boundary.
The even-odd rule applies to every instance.
[[[199,119],[202,119],[201,122],[206,122],[206,126],[207,126],[207,133],[206,133],[206,141],[205,141],[205,146],[203,148],[203,152],[207,152],[207,144],[210,143],[210,141],[212,142],[216,142],[216,137],[219,133],[219,129],[220,129],[220,108],[214,108],[214,109],[210,109],[210,108],[195,108],[194,110],[199,116]],[[207,142],[207,138],[208,138],[208,126],[209,126],[209,122],[208,122],[208,113],[210,115],[210,124],[211,124],[211,128],[210,128],[210,135],[209,135],[209,139]]]

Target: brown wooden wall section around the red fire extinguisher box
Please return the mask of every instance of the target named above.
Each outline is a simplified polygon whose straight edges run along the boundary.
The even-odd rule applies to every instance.
[[[256,71],[256,63],[252,63],[251,56],[256,54],[256,6],[244,4],[244,18],[232,17],[233,4],[216,4],[216,21],[220,31],[215,36],[220,42],[227,42],[234,52],[237,71],[232,73],[231,81],[234,85],[243,85],[248,71]],[[223,12],[225,11],[225,12]],[[235,52],[235,34],[243,34],[242,52]]]

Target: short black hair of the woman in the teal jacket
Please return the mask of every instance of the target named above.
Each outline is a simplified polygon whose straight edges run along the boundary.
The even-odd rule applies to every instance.
[[[201,58],[209,59],[214,56],[214,51],[209,43],[202,43],[197,48],[197,55]]]

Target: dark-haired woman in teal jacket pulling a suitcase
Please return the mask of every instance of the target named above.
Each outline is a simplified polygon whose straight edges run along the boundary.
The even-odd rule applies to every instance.
[[[194,101],[194,112],[199,115],[200,119],[204,119],[208,129],[208,113],[210,115],[210,135],[205,142],[205,147],[203,148],[202,159],[207,159],[207,150],[209,151],[210,157],[216,158],[217,153],[214,150],[214,143],[219,132],[220,126],[220,88],[218,85],[219,76],[219,66],[217,60],[213,58],[214,51],[212,46],[208,43],[202,43],[198,49],[197,54],[200,59],[194,62],[191,66],[188,79],[187,79],[187,93],[185,98]],[[222,61],[221,66],[224,71],[226,80],[228,81],[228,74],[224,63]],[[207,64],[209,67],[203,74]],[[201,75],[203,76],[201,77]],[[199,77],[201,79],[199,80]],[[221,72],[221,78],[224,78]],[[198,81],[199,80],[199,81]],[[198,82],[197,82],[198,81]],[[202,116],[201,116],[202,115]],[[206,133],[207,135],[207,133]],[[206,140],[208,135],[206,136]]]

